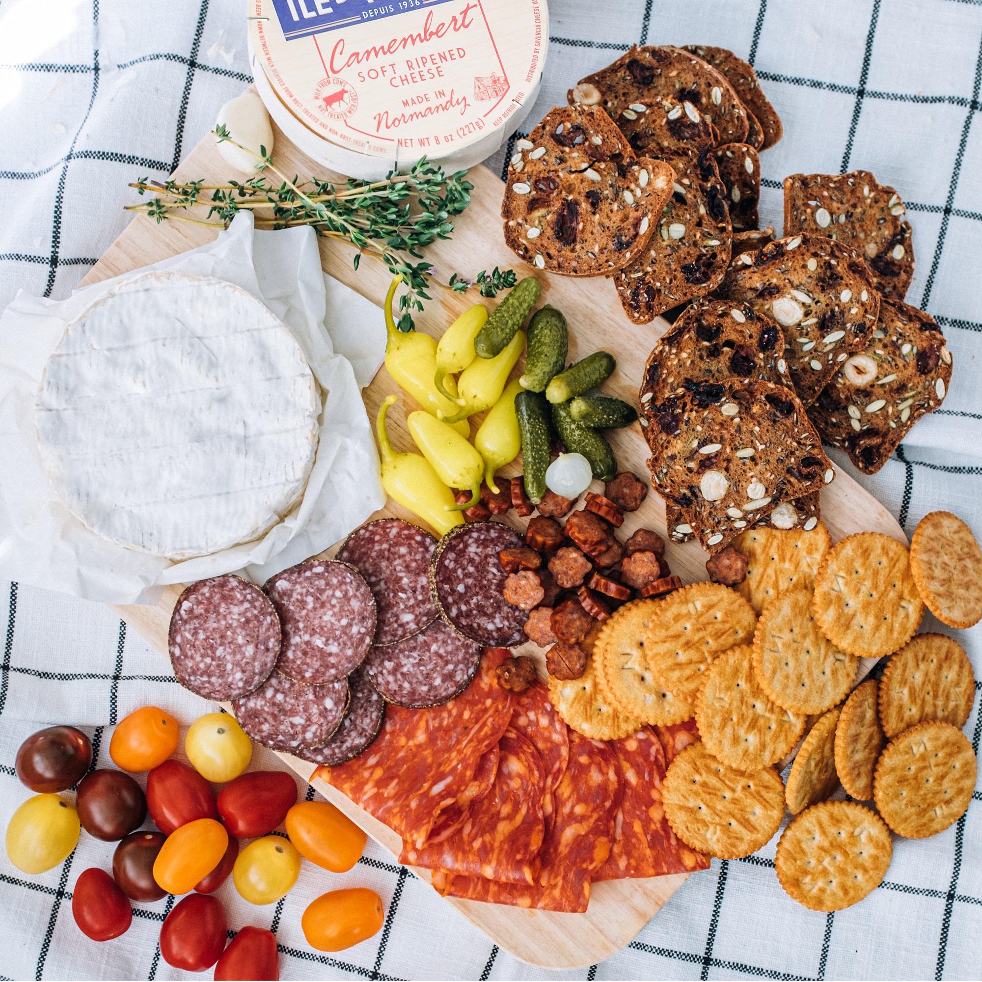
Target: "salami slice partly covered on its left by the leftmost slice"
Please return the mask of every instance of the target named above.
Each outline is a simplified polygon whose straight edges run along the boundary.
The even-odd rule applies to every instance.
[[[295,682],[345,679],[364,661],[375,634],[375,598],[346,563],[307,560],[263,586],[283,626],[279,672]]]

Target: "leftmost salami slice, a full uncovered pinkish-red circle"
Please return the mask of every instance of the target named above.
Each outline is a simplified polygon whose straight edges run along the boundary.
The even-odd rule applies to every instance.
[[[269,678],[280,654],[280,619],[240,576],[199,579],[178,597],[168,637],[178,682],[204,699],[239,699]]]

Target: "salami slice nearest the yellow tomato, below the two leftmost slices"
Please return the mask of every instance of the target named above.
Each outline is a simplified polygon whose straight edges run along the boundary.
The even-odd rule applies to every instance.
[[[239,725],[252,739],[288,753],[329,740],[341,726],[347,708],[347,680],[304,685],[280,672],[232,703]]]

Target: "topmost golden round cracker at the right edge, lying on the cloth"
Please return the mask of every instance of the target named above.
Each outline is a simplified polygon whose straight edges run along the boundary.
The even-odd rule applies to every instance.
[[[931,613],[949,627],[982,619],[982,549],[972,530],[951,512],[917,522],[910,540],[910,572]]]

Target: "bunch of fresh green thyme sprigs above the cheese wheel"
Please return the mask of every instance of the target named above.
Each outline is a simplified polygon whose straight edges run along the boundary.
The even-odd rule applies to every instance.
[[[390,173],[384,181],[353,179],[339,186],[311,178],[301,184],[296,176],[291,181],[277,169],[264,146],[257,154],[232,139],[224,126],[216,127],[214,135],[219,142],[227,140],[251,153],[259,162],[257,169],[275,175],[279,184],[268,180],[265,173],[218,185],[140,178],[130,187],[141,195],[157,196],[128,205],[127,210],[142,212],[157,222],[176,219],[218,228],[227,228],[243,211],[253,212],[256,228],[309,225],[320,236],[355,246],[355,269],[362,254],[367,254],[381,259],[393,276],[401,275],[408,290],[399,299],[399,330],[413,329],[411,311],[422,310],[422,301],[430,300],[426,291],[433,275],[432,263],[423,259],[422,250],[437,239],[450,239],[454,232],[450,219],[470,204],[473,185],[465,180],[466,171],[448,177],[423,157],[409,174]],[[186,213],[196,207],[207,207],[203,219]],[[213,217],[219,221],[208,221]]]

